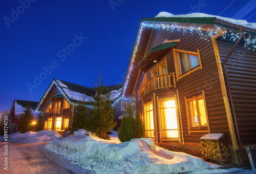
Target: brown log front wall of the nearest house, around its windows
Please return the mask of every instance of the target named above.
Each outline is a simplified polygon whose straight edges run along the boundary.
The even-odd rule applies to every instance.
[[[189,75],[186,75],[176,81],[176,86],[179,92],[179,101],[180,101],[180,110],[181,110],[181,119],[184,134],[184,143],[185,144],[199,144],[199,138],[204,133],[190,133],[188,131],[188,122],[186,115],[185,99],[198,96],[202,94],[202,91],[205,93],[206,107],[208,113],[210,133],[226,133],[228,135],[228,142],[231,144],[229,127],[227,122],[227,116],[225,111],[224,100],[221,91],[220,79],[217,69],[217,63],[215,59],[215,53],[212,46],[211,38],[208,37],[207,40],[201,39],[197,33],[191,34],[189,32],[183,33],[177,30],[173,32],[157,29],[152,33],[150,43],[146,53],[148,53],[152,48],[163,43],[165,39],[175,40],[180,39],[180,42],[177,42],[175,49],[197,52],[197,49],[200,50],[202,69],[199,69]],[[159,62],[163,59],[167,60],[167,69],[168,73],[175,72],[174,64],[174,53],[173,50],[168,52]],[[154,68],[154,67],[153,67]],[[152,68],[152,69],[153,69]],[[147,80],[151,79],[151,69],[146,72]],[[140,89],[141,83],[143,81],[143,75],[140,73],[137,84],[135,86],[135,98],[136,98],[136,110],[143,111],[142,108],[142,99],[138,98],[138,91]],[[164,91],[164,93],[163,93]],[[169,94],[168,92],[169,91]],[[156,96],[160,97],[173,97],[176,92],[172,90],[160,90],[156,92]],[[172,93],[172,94],[170,94]],[[172,95],[172,96],[170,96]],[[143,102],[150,101],[153,97],[153,92],[148,94],[148,96],[143,97]],[[158,108],[156,107],[158,114]],[[158,118],[158,116],[156,117]],[[180,120],[179,120],[180,121]],[[157,120],[159,126],[159,121]],[[180,126],[181,127],[181,126]],[[159,127],[157,127],[159,130]],[[159,133],[158,139],[159,139]]]

